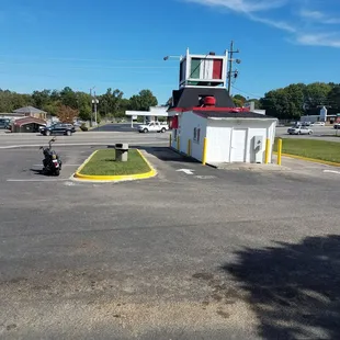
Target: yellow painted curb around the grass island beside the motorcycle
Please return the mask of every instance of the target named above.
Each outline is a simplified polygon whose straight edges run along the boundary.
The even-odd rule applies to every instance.
[[[155,177],[157,171],[150,165],[150,162],[144,157],[140,150],[137,149],[138,154],[143,158],[143,160],[148,165],[150,171],[135,174],[118,174],[118,175],[92,175],[92,174],[82,174],[80,173],[84,166],[91,160],[91,158],[98,152],[95,150],[75,172],[75,178],[84,181],[110,181],[110,182],[118,182],[118,181],[133,181],[133,180],[144,180]]]

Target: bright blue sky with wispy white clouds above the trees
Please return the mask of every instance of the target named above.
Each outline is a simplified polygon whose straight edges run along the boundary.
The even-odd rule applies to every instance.
[[[338,0],[1,0],[0,88],[178,88],[166,55],[240,49],[234,93],[340,79]]]

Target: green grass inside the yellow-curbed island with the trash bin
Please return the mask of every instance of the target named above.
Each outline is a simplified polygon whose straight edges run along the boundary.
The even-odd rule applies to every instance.
[[[136,149],[128,150],[126,162],[115,161],[115,149],[99,150],[80,171],[91,175],[136,174],[150,171],[149,166]]]

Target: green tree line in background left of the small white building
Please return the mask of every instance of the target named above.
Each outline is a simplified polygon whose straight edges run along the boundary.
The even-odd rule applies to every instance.
[[[157,98],[150,90],[141,90],[138,94],[124,98],[118,90],[107,89],[104,94],[98,95],[98,117],[122,117],[126,110],[148,111],[158,104]],[[52,115],[75,116],[89,121],[93,112],[90,93],[73,91],[66,87],[61,91],[43,90],[32,94],[20,94],[10,90],[0,89],[0,112],[13,112],[16,109],[32,105],[46,111]]]

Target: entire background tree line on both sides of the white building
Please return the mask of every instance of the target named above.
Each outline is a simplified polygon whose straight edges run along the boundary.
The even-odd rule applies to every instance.
[[[138,94],[124,98],[118,90],[107,89],[104,94],[98,95],[98,117],[123,117],[125,111],[148,111],[158,104],[157,98],[150,90],[141,90]],[[236,106],[245,102],[254,101],[256,109],[267,111],[270,116],[280,120],[298,120],[305,114],[318,114],[320,106],[329,109],[329,113],[340,113],[340,83],[314,82],[292,83],[282,89],[267,92],[261,99],[249,99],[241,94],[233,97]],[[169,104],[171,99],[167,102]],[[13,112],[15,109],[32,105],[52,115],[78,115],[81,120],[91,117],[92,100],[90,93],[73,91],[66,87],[61,91],[43,90],[32,94],[20,94],[0,89],[0,112]]]

